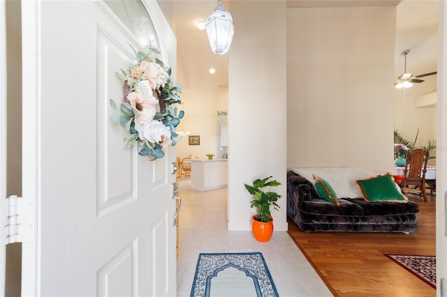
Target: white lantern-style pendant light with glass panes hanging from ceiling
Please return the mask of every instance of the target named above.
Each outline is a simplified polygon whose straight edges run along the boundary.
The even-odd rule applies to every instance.
[[[226,54],[233,40],[234,25],[230,13],[225,11],[222,0],[217,0],[214,12],[205,20],[208,40],[214,54]]]

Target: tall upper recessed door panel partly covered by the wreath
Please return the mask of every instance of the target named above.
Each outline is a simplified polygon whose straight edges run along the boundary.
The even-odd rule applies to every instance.
[[[123,149],[123,139],[126,132],[122,127],[110,123],[109,99],[113,98],[119,102],[122,98],[123,81],[116,73],[123,66],[131,63],[133,54],[126,51],[119,44],[119,40],[112,37],[110,33],[98,27],[98,85],[97,97],[97,153],[98,156],[98,213],[112,211],[120,205],[135,200],[137,181],[135,171],[135,150]]]

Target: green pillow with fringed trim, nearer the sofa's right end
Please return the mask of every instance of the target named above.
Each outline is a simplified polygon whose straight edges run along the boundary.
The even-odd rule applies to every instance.
[[[362,190],[366,201],[405,201],[404,195],[400,193],[390,174],[374,176],[367,179],[359,179],[356,183]]]

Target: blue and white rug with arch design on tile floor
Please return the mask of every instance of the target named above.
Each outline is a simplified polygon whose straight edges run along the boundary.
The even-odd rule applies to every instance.
[[[274,296],[272,275],[261,252],[200,253],[191,297]]]

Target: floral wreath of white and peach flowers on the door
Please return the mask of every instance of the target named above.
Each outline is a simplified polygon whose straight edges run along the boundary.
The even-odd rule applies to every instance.
[[[121,70],[123,102],[119,112],[110,116],[110,121],[114,125],[121,124],[130,133],[124,138],[124,148],[137,143],[140,155],[156,160],[163,158],[164,148],[175,146],[179,140],[175,127],[184,111],[177,115],[177,107],[172,105],[182,102],[178,95],[182,89],[170,79],[171,69],[157,58],[158,50],[148,46],[140,52],[133,51],[137,61],[129,65],[127,72]],[[117,110],[112,99],[110,106]]]

